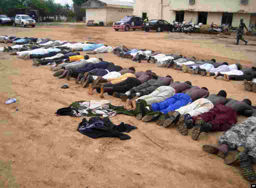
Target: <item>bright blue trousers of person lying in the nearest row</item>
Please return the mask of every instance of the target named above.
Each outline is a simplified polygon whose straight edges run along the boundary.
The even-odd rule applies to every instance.
[[[192,102],[189,95],[177,93],[163,102],[152,104],[151,107],[154,112],[161,111],[162,113],[167,114],[168,112],[173,112],[180,107],[187,105],[189,102]]]

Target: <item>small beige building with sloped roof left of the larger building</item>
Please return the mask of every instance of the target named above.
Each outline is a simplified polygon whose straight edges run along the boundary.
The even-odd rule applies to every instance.
[[[133,14],[132,3],[117,0],[89,0],[82,7],[86,8],[86,22],[103,21],[104,26],[112,26],[113,22]]]

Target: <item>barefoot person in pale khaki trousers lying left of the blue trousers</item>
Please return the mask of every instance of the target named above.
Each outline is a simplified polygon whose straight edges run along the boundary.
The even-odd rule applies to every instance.
[[[192,86],[190,81],[186,81],[184,83],[180,83],[179,81],[176,81],[174,83],[171,83],[169,86],[160,86],[156,88],[156,90],[150,93],[149,95],[144,95],[136,100],[127,99],[126,109],[133,108],[135,110],[136,101],[140,99],[145,100],[147,104],[154,104],[157,102],[162,102],[165,99],[172,97],[175,93],[183,92],[191,87]],[[132,95],[136,96],[136,93],[133,93]]]

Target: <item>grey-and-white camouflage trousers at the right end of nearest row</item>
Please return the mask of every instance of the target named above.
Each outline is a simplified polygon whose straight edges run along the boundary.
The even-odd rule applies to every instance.
[[[256,159],[256,117],[248,117],[236,124],[219,138],[219,144],[227,142],[230,149],[237,149],[240,144],[248,149],[248,155]]]

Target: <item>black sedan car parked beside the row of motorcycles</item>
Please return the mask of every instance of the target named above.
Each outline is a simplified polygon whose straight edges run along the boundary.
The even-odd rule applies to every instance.
[[[142,30],[148,32],[149,30],[156,30],[156,32],[170,31],[173,32],[173,25],[166,20],[149,20],[142,24]]]

